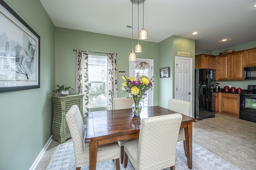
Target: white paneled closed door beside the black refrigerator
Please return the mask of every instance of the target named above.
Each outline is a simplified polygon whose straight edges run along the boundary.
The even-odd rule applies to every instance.
[[[175,98],[191,103],[192,116],[192,59],[176,56],[175,64]]]

